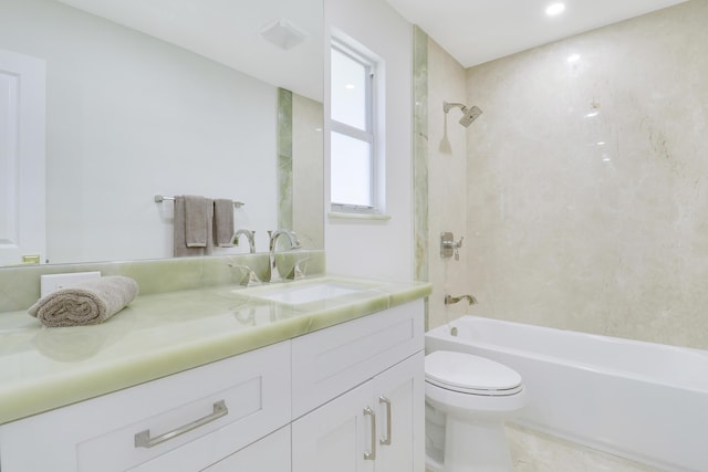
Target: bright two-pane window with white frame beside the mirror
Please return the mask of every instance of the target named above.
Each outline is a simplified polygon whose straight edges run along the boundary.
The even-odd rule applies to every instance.
[[[376,63],[336,41],[331,52],[332,210],[377,213]]]

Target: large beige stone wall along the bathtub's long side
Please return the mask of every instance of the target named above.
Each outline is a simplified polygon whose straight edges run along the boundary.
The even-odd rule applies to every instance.
[[[467,71],[470,313],[708,348],[706,24],[694,0]]]

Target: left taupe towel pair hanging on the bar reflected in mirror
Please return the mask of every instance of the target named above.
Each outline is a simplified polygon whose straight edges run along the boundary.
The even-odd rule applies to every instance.
[[[211,254],[214,200],[197,196],[176,196],[173,234],[175,258]]]

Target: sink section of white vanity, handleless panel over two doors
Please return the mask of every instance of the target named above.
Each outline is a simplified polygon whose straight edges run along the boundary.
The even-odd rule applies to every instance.
[[[423,332],[416,302],[293,340],[293,472],[423,472]]]

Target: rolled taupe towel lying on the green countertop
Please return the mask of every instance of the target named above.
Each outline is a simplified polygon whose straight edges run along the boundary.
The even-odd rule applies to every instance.
[[[133,279],[105,276],[52,292],[30,306],[28,313],[50,327],[92,325],[118,313],[137,293]]]

